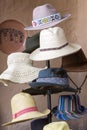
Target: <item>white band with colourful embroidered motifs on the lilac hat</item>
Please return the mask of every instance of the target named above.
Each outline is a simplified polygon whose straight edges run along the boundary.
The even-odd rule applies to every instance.
[[[60,13],[56,13],[47,17],[43,17],[41,19],[36,19],[32,21],[33,27],[37,27],[43,24],[48,24],[50,22],[55,22],[61,19]]]

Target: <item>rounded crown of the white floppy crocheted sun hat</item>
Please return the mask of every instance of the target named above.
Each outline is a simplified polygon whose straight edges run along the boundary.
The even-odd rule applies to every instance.
[[[8,59],[7,59],[7,64],[10,65],[10,64],[31,64],[31,60],[29,59],[29,54],[28,53],[22,53],[22,52],[16,52],[16,53],[11,53],[9,56],[8,56]]]

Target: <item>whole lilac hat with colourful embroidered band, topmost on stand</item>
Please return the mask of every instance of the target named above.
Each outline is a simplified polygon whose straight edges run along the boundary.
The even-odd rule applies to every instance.
[[[41,30],[59,24],[68,19],[71,14],[61,15],[51,4],[37,6],[33,10],[32,26],[25,27],[25,30]]]

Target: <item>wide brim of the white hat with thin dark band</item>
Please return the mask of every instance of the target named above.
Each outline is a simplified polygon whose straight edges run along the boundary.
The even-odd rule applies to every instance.
[[[67,46],[50,51],[40,51],[40,48],[36,49],[30,54],[30,59],[34,61],[50,60],[54,58],[59,58],[69,54],[73,54],[81,49],[78,44],[68,44]]]

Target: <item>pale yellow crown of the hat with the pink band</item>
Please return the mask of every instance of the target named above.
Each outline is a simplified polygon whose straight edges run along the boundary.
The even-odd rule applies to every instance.
[[[26,108],[36,107],[34,98],[27,93],[18,93],[11,99],[12,113],[17,113]]]

